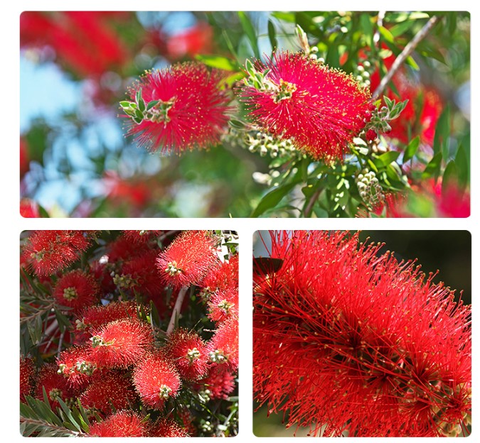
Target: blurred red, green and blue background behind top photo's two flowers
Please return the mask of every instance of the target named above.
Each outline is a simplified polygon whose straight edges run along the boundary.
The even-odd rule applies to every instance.
[[[319,182],[318,164],[250,153],[252,146],[231,137],[210,151],[151,155],[123,136],[117,114],[126,88],[144,70],[192,59],[232,71],[234,84],[244,75],[247,58],[265,58],[273,48],[299,50],[297,25],[331,67],[355,75],[359,60],[373,58],[384,75],[427,18],[426,13],[335,11],[24,12],[21,213],[298,217],[298,208],[306,206]],[[455,217],[432,209],[432,201],[440,199],[437,180],[447,169],[449,177],[462,182],[462,190],[469,182],[469,13],[444,13],[407,60],[402,76],[407,83],[402,80],[400,98],[412,106],[415,102],[415,108],[382,143],[405,152],[418,136],[419,143],[410,147],[412,166],[418,167],[400,163],[399,173],[383,158],[375,160],[378,177],[384,177],[384,190],[398,190],[405,187],[402,173],[409,170],[407,187],[426,196],[410,202],[409,211]],[[393,97],[398,87],[398,82],[390,83]],[[434,93],[434,102],[425,98],[427,92]],[[446,130],[435,146],[439,121]],[[286,163],[294,167],[286,168]],[[447,168],[449,163],[454,164]],[[337,168],[307,215],[356,217],[365,209],[355,176]]]

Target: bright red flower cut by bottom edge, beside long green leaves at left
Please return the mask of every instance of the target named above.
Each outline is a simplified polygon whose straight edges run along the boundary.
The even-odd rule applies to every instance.
[[[90,437],[146,437],[146,425],[135,412],[121,410],[90,426]]]

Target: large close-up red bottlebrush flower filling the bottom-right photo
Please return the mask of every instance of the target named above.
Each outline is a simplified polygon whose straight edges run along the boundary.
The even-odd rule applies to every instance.
[[[470,307],[345,232],[282,231],[257,276],[254,392],[324,437],[466,433]]]

